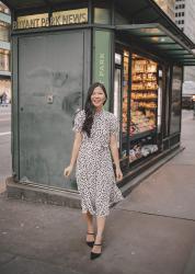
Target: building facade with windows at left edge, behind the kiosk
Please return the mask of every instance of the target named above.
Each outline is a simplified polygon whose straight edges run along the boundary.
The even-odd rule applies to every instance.
[[[10,24],[10,10],[0,1],[0,96],[7,102],[11,100]]]

